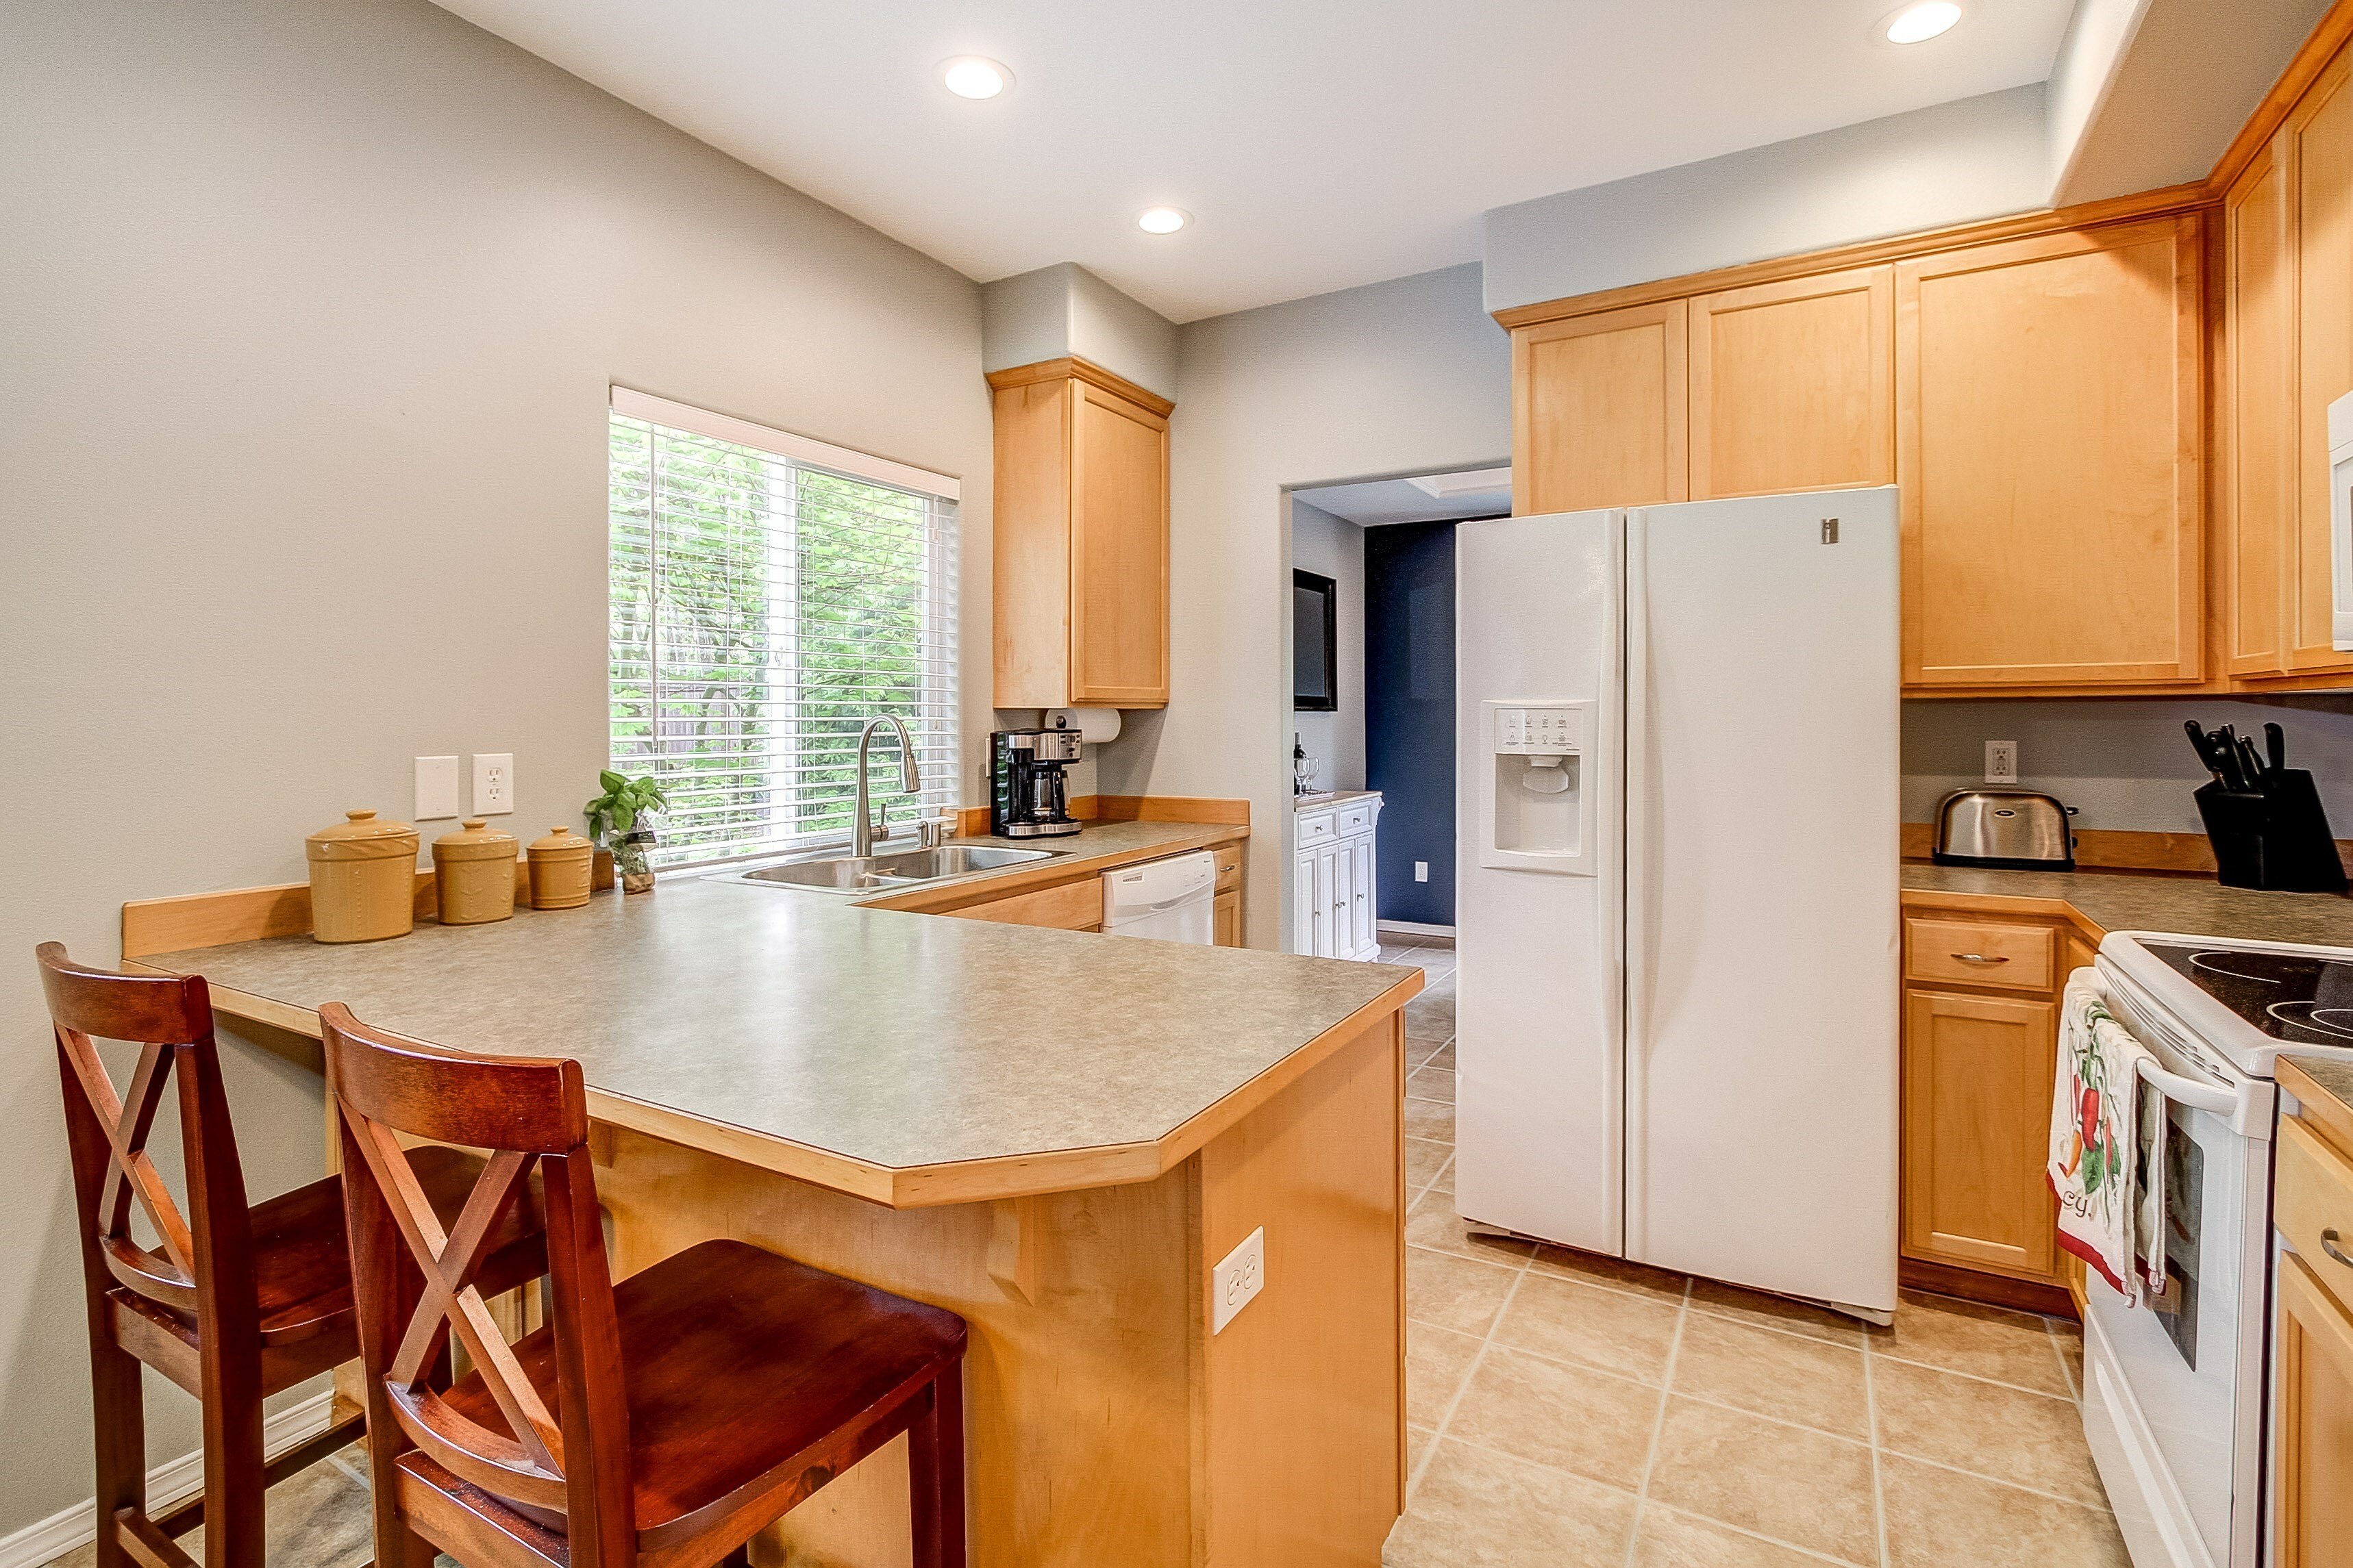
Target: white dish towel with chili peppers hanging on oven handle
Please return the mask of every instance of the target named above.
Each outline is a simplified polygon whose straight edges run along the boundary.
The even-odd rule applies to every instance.
[[[2165,1295],[2165,1095],[2141,1081],[2148,1048],[2108,1013],[2099,971],[2068,976],[2052,1074],[2049,1182],[2059,1246],[2132,1305]]]

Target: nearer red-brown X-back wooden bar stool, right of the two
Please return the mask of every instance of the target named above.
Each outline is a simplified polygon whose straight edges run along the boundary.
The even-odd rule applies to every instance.
[[[379,1568],[708,1568],[908,1434],[915,1568],[965,1561],[965,1319],[741,1241],[612,1284],[579,1063],[442,1051],[320,1009],[344,1135]],[[395,1133],[489,1150],[456,1225]],[[482,1237],[546,1185],[553,1321],[506,1345]],[[421,1380],[456,1338],[473,1371]]]

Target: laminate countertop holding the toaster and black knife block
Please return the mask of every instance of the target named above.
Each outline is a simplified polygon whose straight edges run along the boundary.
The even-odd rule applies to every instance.
[[[1904,863],[1901,886],[1906,900],[1927,893],[1962,910],[2071,914],[2094,938],[2108,931],[2179,931],[2353,947],[2353,898],[2339,893],[2257,893],[2209,877],[1995,872],[1918,860]]]

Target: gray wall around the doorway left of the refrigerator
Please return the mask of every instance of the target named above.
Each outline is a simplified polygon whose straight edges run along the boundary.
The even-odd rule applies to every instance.
[[[1167,712],[1127,715],[1099,780],[1113,795],[1249,797],[1249,943],[1278,947],[1292,750],[1285,491],[1501,465],[1511,343],[1473,263],[1188,322],[1176,350],[1172,698]]]

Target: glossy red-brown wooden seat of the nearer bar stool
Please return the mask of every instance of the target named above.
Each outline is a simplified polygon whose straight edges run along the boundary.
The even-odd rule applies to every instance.
[[[840,1274],[704,1241],[614,1286],[638,1530],[755,1486],[965,1352],[965,1321]],[[555,1331],[515,1345],[551,1410]],[[506,1432],[478,1373],[445,1396]],[[421,1455],[409,1455],[409,1460]],[[409,1462],[402,1460],[402,1462]]]

